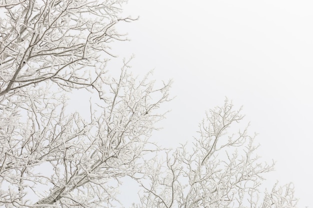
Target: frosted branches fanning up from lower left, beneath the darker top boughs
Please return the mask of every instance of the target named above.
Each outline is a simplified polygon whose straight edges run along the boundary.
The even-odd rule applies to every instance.
[[[163,118],[155,110],[169,100],[170,83],[155,88],[149,76],[137,80],[126,68],[102,83],[106,93],[90,105],[89,120],[66,114],[65,98],[55,94],[33,89],[24,103],[10,101],[0,131],[1,183],[10,192],[0,190],[0,205],[104,206],[115,200],[118,179],[142,172],[141,158],[154,151],[147,139]]]

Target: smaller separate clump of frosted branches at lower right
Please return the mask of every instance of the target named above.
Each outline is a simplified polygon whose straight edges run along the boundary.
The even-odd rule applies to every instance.
[[[144,193],[133,208],[294,207],[292,188],[266,194],[260,202],[263,175],[274,164],[260,162],[247,128],[229,133],[243,119],[240,111],[226,100],[206,114],[192,148],[183,145],[167,153],[164,163],[147,160],[145,175],[133,177]]]

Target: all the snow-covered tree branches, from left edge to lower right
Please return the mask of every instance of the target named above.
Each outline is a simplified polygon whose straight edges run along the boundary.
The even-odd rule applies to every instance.
[[[126,60],[107,70],[111,41],[126,40],[115,25],[133,20],[125,2],[0,0],[0,207],[112,207],[123,177],[144,191],[135,207],[294,207],[291,186],[258,192],[272,165],[247,129],[228,133],[242,119],[228,101],[206,115],[192,151],[161,162],[148,138],[170,82],[138,79]],[[66,108],[74,89],[90,93],[88,117]]]

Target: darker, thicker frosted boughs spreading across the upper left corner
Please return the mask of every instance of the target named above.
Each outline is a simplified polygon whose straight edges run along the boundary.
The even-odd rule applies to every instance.
[[[51,80],[62,86],[93,86],[125,0],[2,0],[0,7],[0,96]],[[87,73],[87,74],[86,74]]]

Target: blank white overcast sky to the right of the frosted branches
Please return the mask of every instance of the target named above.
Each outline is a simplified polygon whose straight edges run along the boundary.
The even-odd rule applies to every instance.
[[[293,182],[298,207],[313,208],[312,11],[311,0],[129,0],[125,13],[140,18],[120,25],[131,41],[115,54],[135,54],[134,73],[155,68],[155,79],[174,81],[153,137],[191,141],[227,96],[259,133],[260,155],[277,161],[268,188]]]

